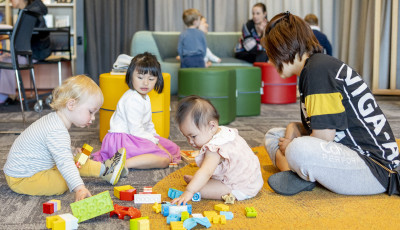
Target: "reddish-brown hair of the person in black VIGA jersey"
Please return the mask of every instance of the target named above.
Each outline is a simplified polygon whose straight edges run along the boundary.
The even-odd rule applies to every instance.
[[[271,19],[265,28],[261,44],[279,73],[282,72],[283,63],[293,64],[296,54],[301,60],[304,53],[322,53],[322,47],[310,26],[289,11]]]

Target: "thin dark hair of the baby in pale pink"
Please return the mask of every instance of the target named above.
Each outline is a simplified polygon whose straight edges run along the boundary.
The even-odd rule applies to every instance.
[[[191,95],[179,101],[175,116],[178,125],[182,124],[187,116],[192,116],[194,124],[199,129],[211,120],[219,121],[218,111],[213,104],[197,95]]]

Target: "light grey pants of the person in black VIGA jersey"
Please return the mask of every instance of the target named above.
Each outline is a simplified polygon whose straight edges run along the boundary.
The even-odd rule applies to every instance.
[[[265,134],[265,148],[275,165],[275,154],[285,128],[273,128]],[[372,195],[386,191],[364,160],[345,145],[315,137],[293,139],[285,156],[289,167],[307,181],[317,181],[332,192],[344,195]]]

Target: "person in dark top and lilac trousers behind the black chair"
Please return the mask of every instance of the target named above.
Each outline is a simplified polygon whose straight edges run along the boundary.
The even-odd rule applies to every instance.
[[[12,0],[11,4],[13,8],[27,9],[38,13],[38,20],[35,27],[46,28],[43,15],[47,14],[47,7],[41,0]],[[39,34],[32,35],[31,40],[32,57],[34,60],[40,61],[50,56],[50,35],[48,32],[41,32]],[[11,62],[11,55],[4,53],[0,56],[2,62]],[[24,57],[18,57],[20,64],[25,64],[26,59]],[[15,104],[15,71],[0,69],[0,104],[9,105]]]

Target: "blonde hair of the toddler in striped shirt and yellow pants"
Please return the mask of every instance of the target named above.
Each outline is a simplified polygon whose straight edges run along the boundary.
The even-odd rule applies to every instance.
[[[50,107],[55,111],[66,107],[68,100],[74,99],[77,103],[86,99],[88,96],[98,95],[103,104],[103,93],[100,87],[90,77],[77,75],[65,80],[62,85],[53,90],[53,101]]]

